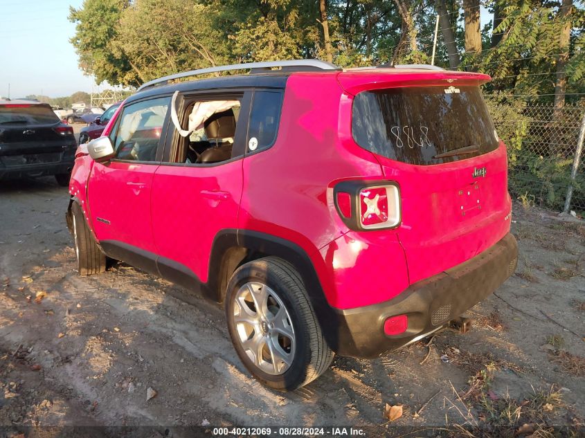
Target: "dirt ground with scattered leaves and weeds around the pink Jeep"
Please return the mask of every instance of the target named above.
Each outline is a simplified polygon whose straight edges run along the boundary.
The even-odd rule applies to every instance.
[[[579,223],[516,205],[518,270],[469,311],[468,334],[443,331],[373,361],[337,357],[317,381],[278,394],[246,372],[216,305],[187,304],[174,298],[181,289],[125,264],[79,277],[67,203],[51,178],[0,184],[0,437],[28,437],[35,426],[182,437],[195,436],[182,426],[201,425],[583,436]],[[157,394],[147,401],[148,388]],[[384,417],[386,403],[402,416]]]

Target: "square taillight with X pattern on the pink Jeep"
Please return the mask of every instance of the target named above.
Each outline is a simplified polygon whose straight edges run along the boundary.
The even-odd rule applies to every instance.
[[[334,188],[335,206],[352,230],[394,228],[400,223],[400,191],[392,181],[343,181]]]

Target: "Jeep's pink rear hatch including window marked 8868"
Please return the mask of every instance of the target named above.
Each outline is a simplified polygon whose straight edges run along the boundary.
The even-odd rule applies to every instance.
[[[363,87],[352,136],[399,183],[397,234],[411,284],[478,255],[509,230],[505,145],[478,84]]]

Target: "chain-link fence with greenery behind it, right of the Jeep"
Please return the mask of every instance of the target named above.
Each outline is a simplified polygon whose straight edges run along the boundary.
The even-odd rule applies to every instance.
[[[497,96],[486,98],[498,135],[508,149],[510,193],[525,203],[562,211],[573,186],[570,209],[585,210],[585,157],[571,178],[584,123],[585,104],[530,104]]]

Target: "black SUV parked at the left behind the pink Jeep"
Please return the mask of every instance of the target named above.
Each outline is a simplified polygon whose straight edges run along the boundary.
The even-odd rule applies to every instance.
[[[69,185],[76,147],[73,128],[49,104],[0,100],[0,179],[55,175]]]

